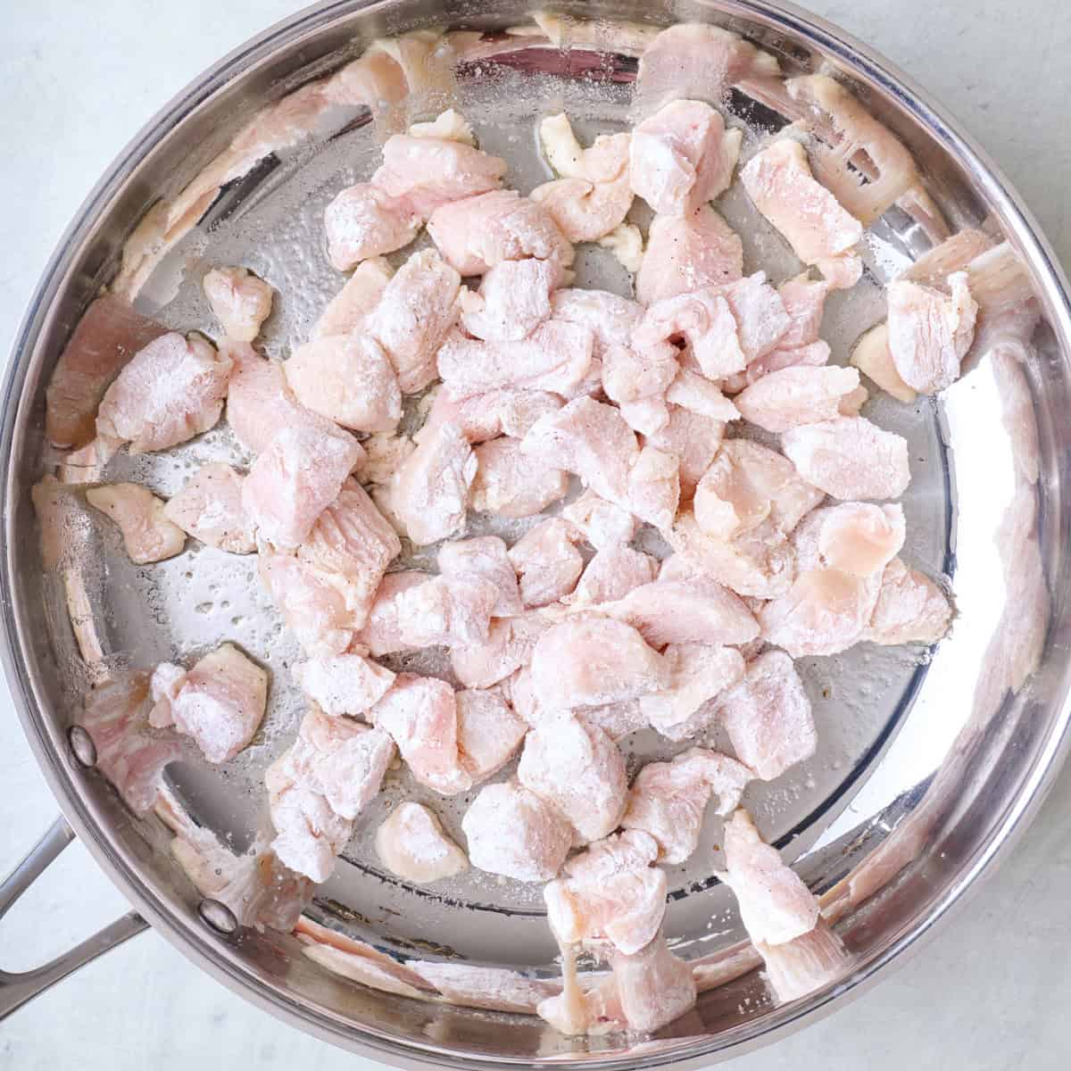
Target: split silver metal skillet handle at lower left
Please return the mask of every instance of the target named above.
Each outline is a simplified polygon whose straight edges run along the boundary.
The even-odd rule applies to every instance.
[[[15,901],[44,873],[48,864],[74,840],[74,830],[62,817],[51,824],[48,832],[30,849],[29,855],[0,885],[0,918]],[[0,1020],[44,993],[50,985],[66,978],[72,971],[95,960],[109,949],[148,929],[149,923],[136,911],[127,911],[111,925],[88,937],[69,952],[56,956],[50,963],[32,970],[13,974],[0,970]]]

